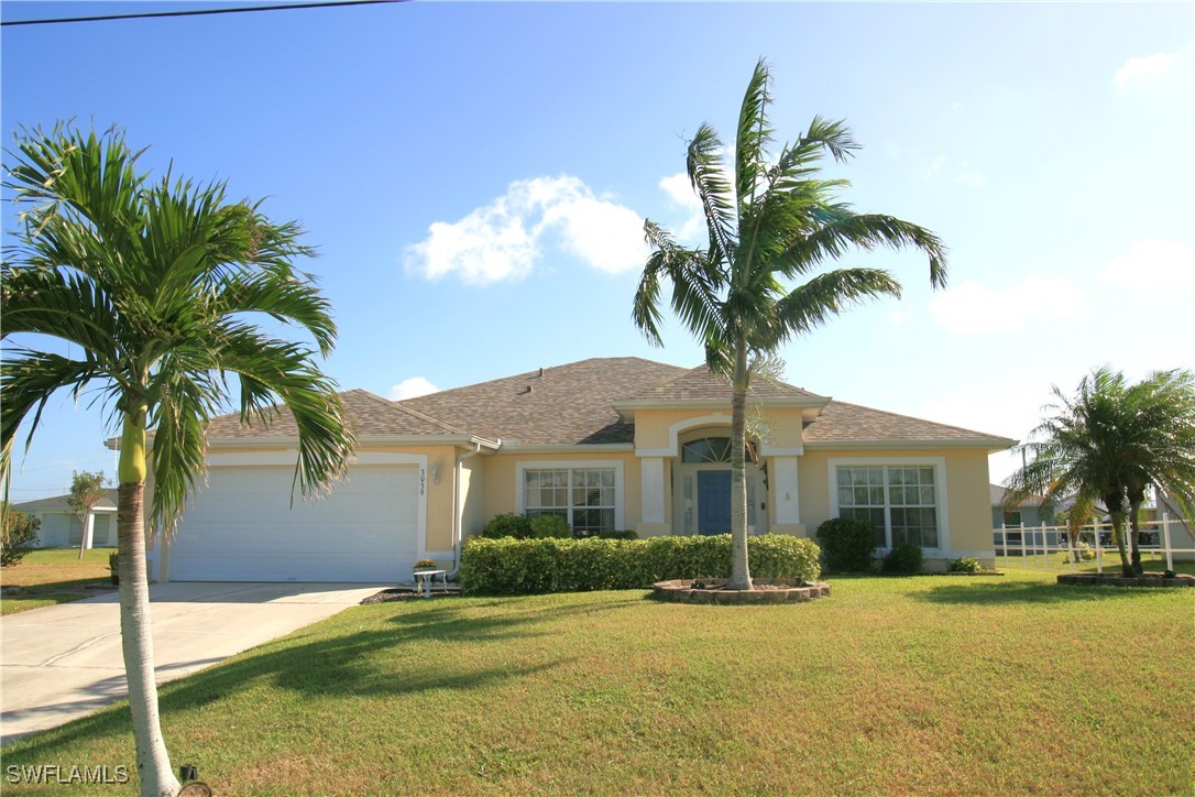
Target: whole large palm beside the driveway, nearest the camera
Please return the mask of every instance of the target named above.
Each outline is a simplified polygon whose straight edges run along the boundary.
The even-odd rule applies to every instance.
[[[142,151],[143,152],[143,151]],[[124,135],[57,124],[18,134],[5,186],[22,203],[18,243],[0,272],[2,331],[57,338],[10,342],[0,370],[0,467],[50,396],[88,391],[121,429],[121,637],[142,795],[178,791],[161,737],[146,577],[145,485],[153,528],[168,533],[204,472],[206,421],[239,388],[243,421],[268,423],[281,401],[299,424],[296,484],[312,495],[343,474],[353,450],[335,384],[317,366],[336,338],[331,307],[292,262],[311,253],[295,223],[227,202],[225,184],[136,171]],[[312,344],[264,332],[264,314]],[[45,338],[23,338],[41,344]],[[59,351],[49,350],[56,348]],[[66,354],[62,354],[62,352]],[[153,450],[147,455],[147,428]]]

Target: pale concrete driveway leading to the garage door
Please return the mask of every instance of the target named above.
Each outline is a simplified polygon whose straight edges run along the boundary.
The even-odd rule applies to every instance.
[[[149,587],[158,682],[332,617],[387,584]],[[116,593],[0,618],[0,743],[128,694]]]

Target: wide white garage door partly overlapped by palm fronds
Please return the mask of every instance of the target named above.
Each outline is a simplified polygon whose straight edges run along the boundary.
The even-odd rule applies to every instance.
[[[356,466],[327,497],[290,507],[290,467],[214,467],[170,545],[171,581],[407,580],[418,470]]]

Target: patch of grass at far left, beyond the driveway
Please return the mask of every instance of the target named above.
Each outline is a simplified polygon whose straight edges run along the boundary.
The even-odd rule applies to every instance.
[[[0,570],[5,587],[24,587],[20,595],[0,597],[0,614],[27,612],[42,606],[54,606],[88,597],[96,593],[84,589],[96,582],[111,583],[108,554],[116,548],[91,548],[79,558],[79,548],[47,548],[31,551],[11,568]]]

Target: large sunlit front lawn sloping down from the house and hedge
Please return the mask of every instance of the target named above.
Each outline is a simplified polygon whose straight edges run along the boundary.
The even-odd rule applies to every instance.
[[[1195,590],[1053,578],[366,606],[163,686],[163,724],[221,795],[1191,793]],[[131,750],[122,704],[5,762]]]

